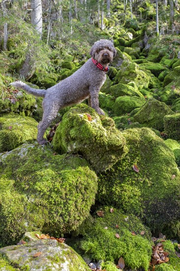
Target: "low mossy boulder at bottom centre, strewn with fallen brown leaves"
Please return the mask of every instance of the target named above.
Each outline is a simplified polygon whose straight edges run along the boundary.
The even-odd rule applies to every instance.
[[[102,217],[96,217],[80,242],[80,248],[98,261],[118,263],[123,257],[125,266],[132,270],[148,271],[151,255],[150,231],[134,215],[124,215],[118,209],[110,212],[103,207]],[[144,231],[142,237],[140,233]],[[131,232],[136,232],[132,235]],[[116,234],[119,236],[116,237]]]

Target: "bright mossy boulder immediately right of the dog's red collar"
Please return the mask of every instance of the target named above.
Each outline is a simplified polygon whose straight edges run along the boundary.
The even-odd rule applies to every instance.
[[[127,84],[131,81],[135,82],[138,88],[148,87],[150,83],[147,73],[141,70],[136,63],[123,61],[115,77],[115,83]]]

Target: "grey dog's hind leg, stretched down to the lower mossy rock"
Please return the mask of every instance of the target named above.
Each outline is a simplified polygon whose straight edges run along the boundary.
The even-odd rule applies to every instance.
[[[47,143],[47,140],[43,138],[43,135],[46,129],[50,126],[51,122],[56,118],[58,110],[60,108],[60,105],[57,104],[56,102],[51,102],[47,106],[47,103],[43,101],[43,105],[44,105],[43,117],[42,117],[42,121],[39,122],[38,133],[37,133],[37,142],[40,145]]]

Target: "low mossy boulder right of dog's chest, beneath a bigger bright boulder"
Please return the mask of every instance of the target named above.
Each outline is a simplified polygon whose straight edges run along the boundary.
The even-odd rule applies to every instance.
[[[125,84],[117,84],[110,88],[110,93],[117,97],[120,96],[137,96],[140,98],[144,98],[143,94],[138,89],[133,88],[130,85]]]

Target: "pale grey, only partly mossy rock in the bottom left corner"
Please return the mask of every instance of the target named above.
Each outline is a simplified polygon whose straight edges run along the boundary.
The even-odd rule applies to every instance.
[[[39,253],[39,256],[34,257]],[[0,248],[4,271],[15,270],[59,270],[89,271],[89,267],[74,249],[57,240],[34,240],[24,245],[11,245]],[[13,268],[15,267],[15,268]],[[1,270],[1,269],[0,269]]]

